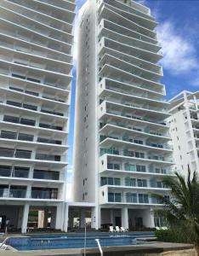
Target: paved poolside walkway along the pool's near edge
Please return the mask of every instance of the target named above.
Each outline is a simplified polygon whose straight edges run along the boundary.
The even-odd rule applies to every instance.
[[[185,250],[192,248],[191,244],[180,244],[170,242],[154,242],[151,244],[142,244],[137,246],[125,247],[104,247],[104,255],[108,256],[130,256],[141,255],[141,253],[162,253],[168,251]],[[99,249],[87,249],[86,254],[89,256],[99,255]],[[83,255],[83,249],[61,249],[61,250],[42,250],[42,251],[0,251],[1,256],[80,256]]]

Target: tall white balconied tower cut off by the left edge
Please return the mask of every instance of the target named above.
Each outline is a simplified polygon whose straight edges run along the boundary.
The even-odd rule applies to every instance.
[[[0,230],[9,218],[26,232],[34,212],[38,227],[64,230],[74,10],[0,1]]]

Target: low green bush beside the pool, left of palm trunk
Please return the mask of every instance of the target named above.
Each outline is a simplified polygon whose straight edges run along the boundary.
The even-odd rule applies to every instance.
[[[191,243],[190,236],[180,229],[156,230],[155,235],[158,241]]]

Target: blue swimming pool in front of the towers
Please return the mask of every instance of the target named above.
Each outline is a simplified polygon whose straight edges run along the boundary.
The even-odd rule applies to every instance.
[[[86,247],[98,247],[95,239],[99,239],[101,247],[136,245],[136,238],[154,236],[153,232],[128,233],[88,233]],[[44,249],[83,248],[84,234],[62,234],[9,238],[8,244],[19,251]]]

